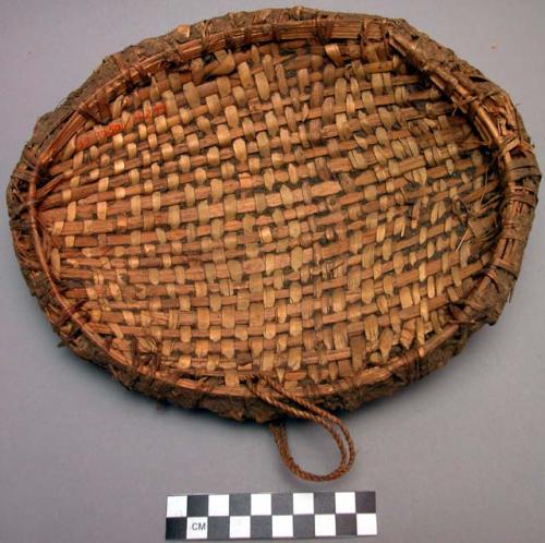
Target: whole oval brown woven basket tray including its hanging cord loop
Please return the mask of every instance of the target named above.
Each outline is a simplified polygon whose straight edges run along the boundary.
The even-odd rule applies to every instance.
[[[8,201],[74,352],[183,407],[316,420],[338,476],[353,444],[325,410],[497,319],[538,182],[511,100],[452,51],[401,20],[296,8],[107,58],[39,120]]]

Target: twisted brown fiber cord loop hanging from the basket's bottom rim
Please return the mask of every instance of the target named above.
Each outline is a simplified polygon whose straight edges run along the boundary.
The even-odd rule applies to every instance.
[[[255,383],[255,379],[257,379],[257,383]],[[295,403],[295,406],[275,398],[270,393],[266,391],[264,387],[261,387],[259,383],[268,385],[280,396]],[[326,474],[312,473],[301,468],[301,466],[293,459],[288,445],[288,436],[286,432],[286,424],[283,423],[283,421],[279,423],[270,423],[269,429],[272,432],[272,436],[278,447],[278,451],[280,452],[280,457],[283,463],[290,469],[292,473],[305,481],[322,482],[334,481],[335,479],[339,479],[344,473],[350,471],[355,459],[355,447],[350,432],[340,419],[332,415],[328,411],[315,406],[314,403],[311,403],[310,401],[295,396],[279,383],[275,383],[269,377],[257,377],[255,375],[251,375],[246,379],[246,386],[256,397],[258,397],[266,403],[278,408],[286,414],[319,424],[331,435],[335,443],[337,444],[341,456],[339,466],[334,471]]]

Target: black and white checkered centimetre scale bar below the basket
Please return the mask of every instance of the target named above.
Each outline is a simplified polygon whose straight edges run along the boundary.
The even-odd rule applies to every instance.
[[[169,496],[168,541],[376,535],[374,492]]]

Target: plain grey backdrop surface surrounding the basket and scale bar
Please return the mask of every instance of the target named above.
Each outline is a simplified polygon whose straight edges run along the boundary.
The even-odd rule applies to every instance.
[[[1,0],[0,179],[4,190],[38,114],[108,53],[180,23],[259,1]],[[542,165],[545,2],[306,1],[401,16],[479,67],[519,105]],[[57,338],[13,256],[0,209],[0,543],[155,543],[168,494],[376,490],[380,542],[545,540],[545,209],[513,301],[444,370],[347,415],[352,472],[324,486],[283,469],[265,427],[125,391]],[[293,423],[296,457],[320,470],[336,451]]]

